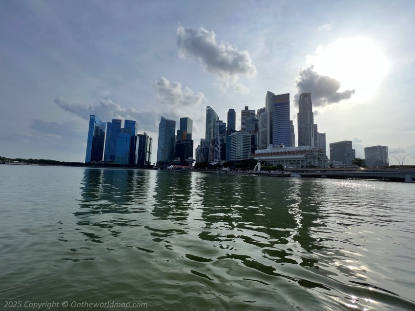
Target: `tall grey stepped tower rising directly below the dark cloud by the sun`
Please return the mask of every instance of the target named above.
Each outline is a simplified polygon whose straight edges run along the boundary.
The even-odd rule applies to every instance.
[[[302,93],[298,100],[298,146],[314,147],[314,116],[311,93]]]

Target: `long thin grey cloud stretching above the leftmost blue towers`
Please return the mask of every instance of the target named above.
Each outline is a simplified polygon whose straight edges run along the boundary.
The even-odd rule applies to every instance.
[[[96,115],[104,122],[112,119],[130,119],[138,122],[139,129],[155,131],[160,113],[156,111],[138,111],[135,108],[123,108],[111,99],[101,99],[98,105],[73,103],[61,96],[55,98],[55,103],[71,114],[89,120],[89,115]]]

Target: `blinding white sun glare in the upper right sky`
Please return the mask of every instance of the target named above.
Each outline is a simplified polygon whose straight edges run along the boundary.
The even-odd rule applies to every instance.
[[[365,38],[340,39],[320,45],[315,55],[307,57],[308,65],[320,75],[341,82],[339,91],[355,89],[354,99],[365,100],[374,95],[388,73],[389,62],[383,51]]]

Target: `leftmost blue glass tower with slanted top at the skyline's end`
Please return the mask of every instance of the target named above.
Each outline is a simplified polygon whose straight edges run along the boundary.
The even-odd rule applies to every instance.
[[[85,163],[103,160],[105,126],[106,123],[102,122],[99,117],[90,115]]]

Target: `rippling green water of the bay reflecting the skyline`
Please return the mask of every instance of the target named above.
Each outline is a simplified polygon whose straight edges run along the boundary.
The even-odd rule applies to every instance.
[[[380,181],[0,165],[0,309],[415,310],[414,194]],[[76,306],[111,301],[125,305]]]

